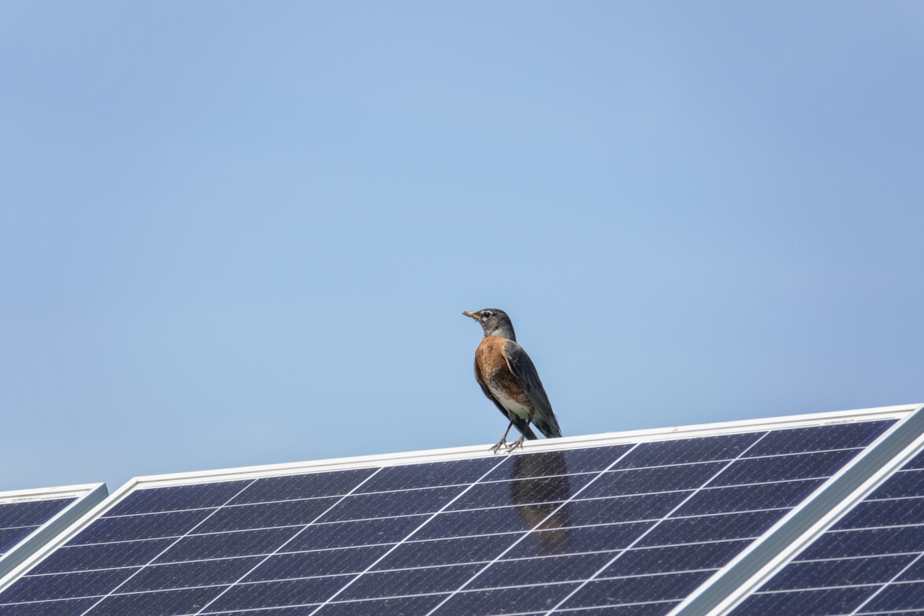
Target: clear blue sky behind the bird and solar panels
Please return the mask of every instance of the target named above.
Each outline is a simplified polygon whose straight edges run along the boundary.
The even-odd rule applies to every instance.
[[[0,4],[0,489],[924,402],[924,5]]]

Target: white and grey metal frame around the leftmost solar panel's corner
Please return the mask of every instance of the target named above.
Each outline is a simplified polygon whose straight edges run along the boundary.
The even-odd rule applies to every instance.
[[[82,494],[81,494],[82,492]],[[54,498],[76,496],[76,500],[67,505],[43,525],[19,541],[3,556],[0,556],[0,588],[6,586],[7,578],[16,577],[16,570],[23,562],[29,560],[48,542],[61,535],[67,528],[77,522],[84,513],[89,512],[109,495],[104,483],[91,483],[81,486],[63,488],[20,489],[14,492],[0,492],[0,500],[9,502],[42,501]],[[44,498],[43,498],[44,497]]]

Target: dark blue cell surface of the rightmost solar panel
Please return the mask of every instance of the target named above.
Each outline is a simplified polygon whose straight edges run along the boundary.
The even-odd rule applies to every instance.
[[[924,453],[888,477],[733,616],[924,613]]]

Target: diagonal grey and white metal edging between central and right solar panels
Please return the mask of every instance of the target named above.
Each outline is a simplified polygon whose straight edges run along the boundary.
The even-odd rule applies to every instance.
[[[768,576],[869,492],[881,477],[924,442],[924,405],[916,405],[831,477],[808,501],[755,541],[667,616],[720,616],[746,598]]]

